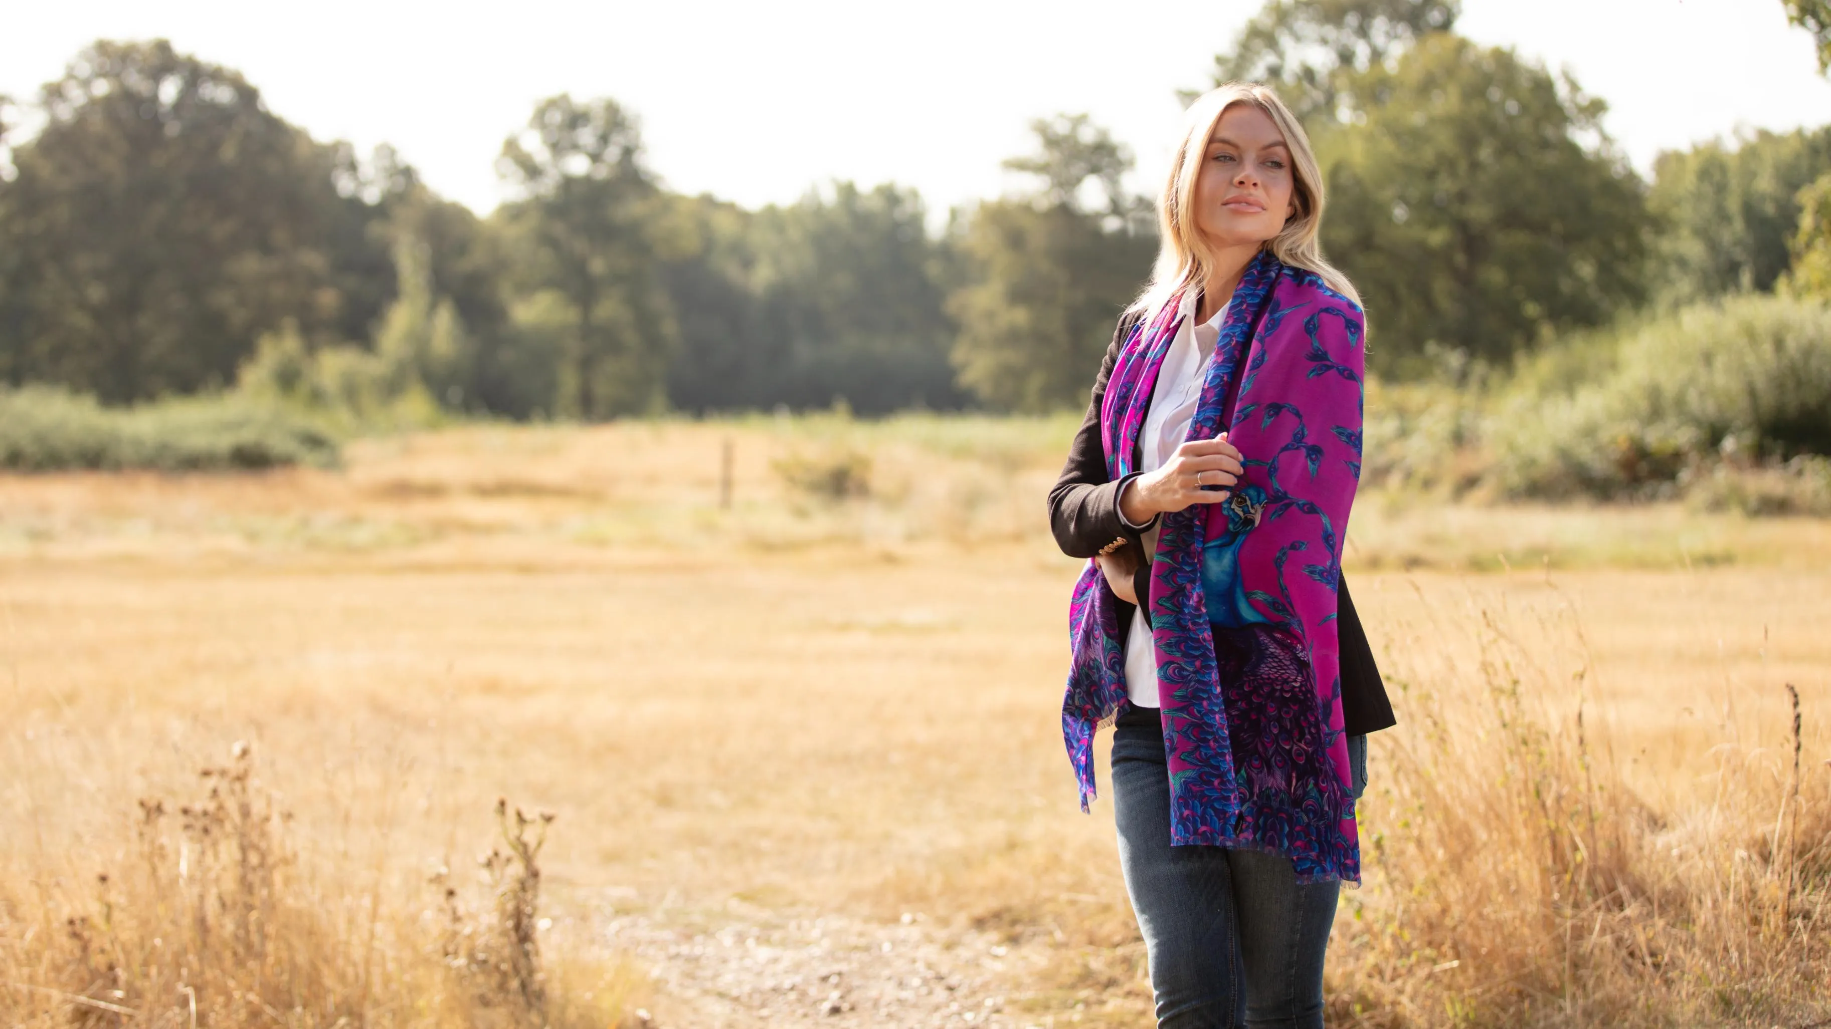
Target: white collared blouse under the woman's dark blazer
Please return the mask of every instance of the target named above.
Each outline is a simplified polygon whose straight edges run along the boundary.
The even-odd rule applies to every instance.
[[[1196,417],[1201,403],[1201,381],[1208,377],[1208,364],[1214,363],[1214,344],[1221,339],[1221,320],[1227,308],[1221,308],[1203,324],[1196,322],[1197,297],[1186,293],[1179,309],[1183,328],[1177,330],[1170,352],[1165,353],[1157,368],[1157,386],[1150,395],[1150,412],[1144,416],[1144,428],[1139,436],[1141,472],[1154,472],[1186,443],[1188,423]],[[1128,485],[1130,489],[1130,485]],[[1124,514],[1121,514],[1124,518]],[[1135,525],[1133,525],[1135,527]],[[1157,525],[1144,533],[1144,553],[1157,549]],[[1157,696],[1157,646],[1150,639],[1150,617],[1146,604],[1150,597],[1139,597],[1139,610],[1132,615],[1132,632],[1126,635],[1126,694],[1137,707],[1161,707]]]

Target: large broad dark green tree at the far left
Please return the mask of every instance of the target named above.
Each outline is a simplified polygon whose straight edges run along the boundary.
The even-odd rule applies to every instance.
[[[132,401],[234,377],[293,319],[361,339],[386,304],[386,196],[242,75],[165,40],[97,42],[40,92],[0,190],[0,377]]]

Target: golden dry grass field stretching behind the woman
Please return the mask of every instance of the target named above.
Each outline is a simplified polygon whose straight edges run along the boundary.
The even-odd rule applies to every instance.
[[[0,478],[0,1020],[1146,1025],[1069,430]],[[1333,1025],[1831,1024],[1831,524],[1366,496],[1348,568],[1401,727]]]

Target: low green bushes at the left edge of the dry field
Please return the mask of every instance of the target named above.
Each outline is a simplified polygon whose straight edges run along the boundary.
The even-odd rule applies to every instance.
[[[231,471],[328,465],[337,441],[311,419],[247,397],[103,408],[51,386],[0,390],[0,469]]]

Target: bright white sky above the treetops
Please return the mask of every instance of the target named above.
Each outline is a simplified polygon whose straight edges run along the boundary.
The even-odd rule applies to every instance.
[[[1027,125],[1089,112],[1168,163],[1177,88],[1205,88],[1258,0],[650,0],[5,4],[0,93],[35,95],[97,37],[167,37],[249,77],[278,115],[363,150],[394,143],[438,192],[500,200],[494,157],[536,99],[635,110],[672,189],[745,205],[855,179],[930,209],[996,196]],[[1780,0],[1465,0],[1459,24],[1571,70],[1642,172],[1739,126],[1831,123],[1831,84]]]

